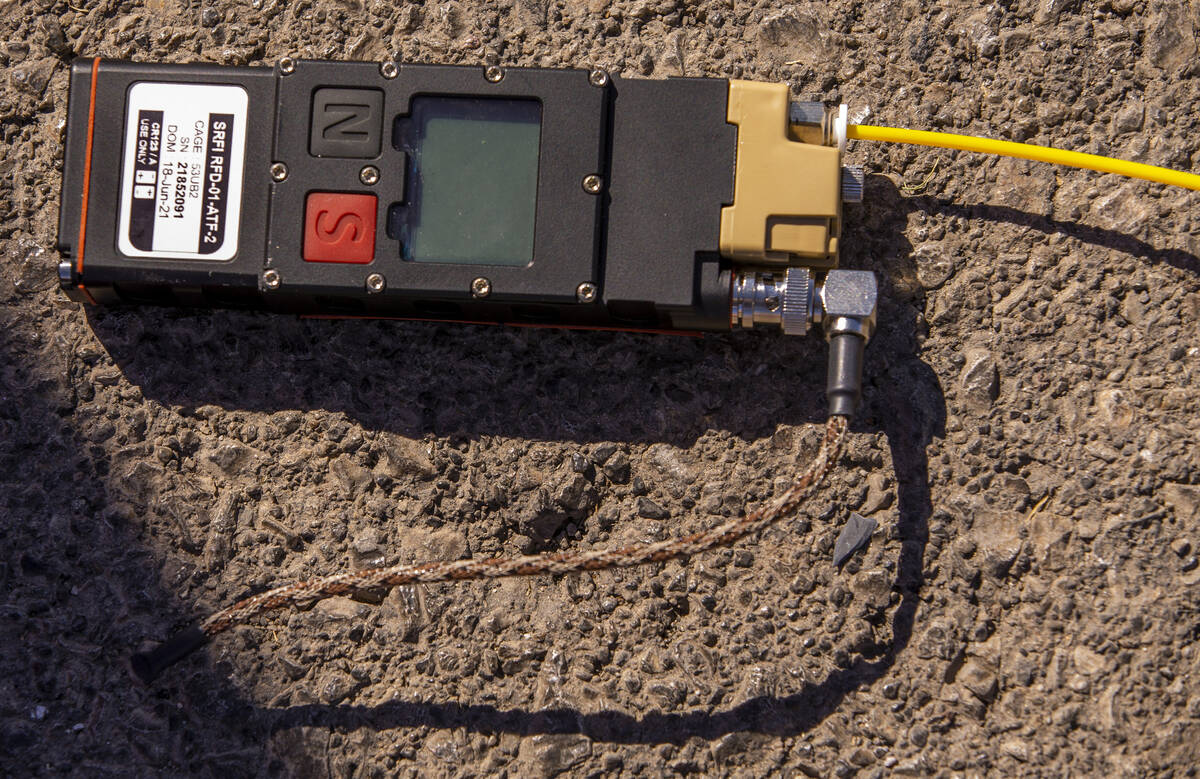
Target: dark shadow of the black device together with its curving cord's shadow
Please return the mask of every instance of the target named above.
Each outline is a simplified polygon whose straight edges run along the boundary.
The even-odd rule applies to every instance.
[[[220,719],[236,717],[259,735],[311,725],[428,725],[518,735],[578,732],[650,744],[811,730],[850,690],[883,677],[911,641],[931,514],[925,449],[946,421],[941,385],[919,354],[923,300],[907,282],[914,270],[904,238],[905,210],[890,182],[869,181],[868,198],[872,206],[851,211],[845,227],[844,266],[875,270],[881,280],[878,329],[868,348],[864,403],[853,430],[887,437],[900,539],[900,601],[890,611],[889,637],[868,654],[852,655],[845,667],[788,694],[720,712],[644,715],[418,702],[272,708],[232,693],[224,661],[196,667],[202,664],[194,659],[186,661],[186,671],[168,671],[158,684],[193,700],[221,696]],[[95,311],[90,317],[128,379],[146,397],[185,413],[203,405],[266,413],[323,409],[346,413],[366,429],[414,437],[686,445],[714,427],[746,438],[767,436],[780,424],[820,421],[824,409],[823,344],[769,332],[671,338],[150,310],[136,316]],[[870,467],[851,463],[864,466]],[[160,622],[163,630],[168,624],[169,618]]]

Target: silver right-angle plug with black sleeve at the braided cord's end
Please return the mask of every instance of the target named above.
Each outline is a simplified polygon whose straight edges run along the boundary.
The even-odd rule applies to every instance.
[[[853,417],[863,396],[863,352],[875,332],[878,287],[866,270],[830,270],[817,289],[821,329],[829,341],[829,414]],[[820,312],[820,314],[817,314]]]

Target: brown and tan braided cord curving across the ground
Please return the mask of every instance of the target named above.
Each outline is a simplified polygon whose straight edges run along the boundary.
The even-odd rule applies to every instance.
[[[841,455],[847,426],[848,419],[846,417],[830,417],[826,425],[821,448],[812,462],[782,495],[766,507],[724,522],[710,531],[654,544],[635,544],[622,549],[367,568],[325,579],[298,581],[239,600],[204,621],[200,630],[211,637],[266,611],[295,606],[301,603],[307,604],[334,595],[344,595],[355,591],[390,589],[400,585],[413,583],[431,585],[472,579],[574,574],[606,568],[631,568],[646,563],[661,563],[678,557],[690,557],[718,546],[728,546],[787,516],[802,501],[816,491]]]

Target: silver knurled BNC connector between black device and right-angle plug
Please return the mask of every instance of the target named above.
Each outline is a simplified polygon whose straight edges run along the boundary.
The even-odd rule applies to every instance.
[[[733,277],[730,322],[734,328],[779,326],[787,335],[804,335],[811,320],[812,274],[808,268],[745,271]]]

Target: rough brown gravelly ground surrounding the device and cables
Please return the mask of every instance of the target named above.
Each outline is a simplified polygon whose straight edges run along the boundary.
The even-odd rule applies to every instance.
[[[824,346],[56,288],[67,62],[786,80],[878,124],[1200,170],[1196,0],[0,2],[0,773],[1193,775],[1200,194],[852,144],[882,280],[828,487],[688,564],[401,588],[131,652],[348,567],[626,544],[778,491]],[[850,511],[880,523],[842,570]]]

